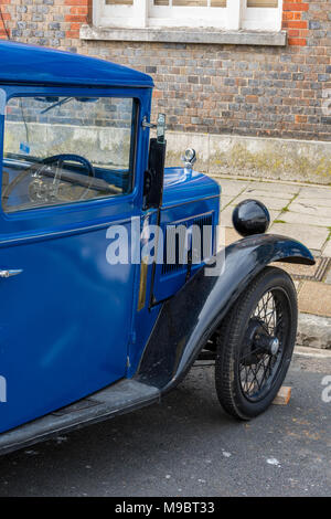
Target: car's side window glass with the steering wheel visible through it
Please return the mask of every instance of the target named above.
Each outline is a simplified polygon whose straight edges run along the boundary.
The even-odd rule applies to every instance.
[[[11,98],[6,110],[3,211],[129,193],[135,120],[131,98]]]

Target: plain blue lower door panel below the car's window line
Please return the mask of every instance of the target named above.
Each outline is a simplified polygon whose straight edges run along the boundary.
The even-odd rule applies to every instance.
[[[1,268],[23,272],[0,284],[0,432],[125,377],[135,265],[109,267],[108,226],[1,247]]]

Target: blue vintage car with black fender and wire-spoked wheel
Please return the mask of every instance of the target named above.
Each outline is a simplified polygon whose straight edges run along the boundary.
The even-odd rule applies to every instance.
[[[0,43],[0,452],[158,402],[202,350],[220,402],[249,420],[289,367],[293,284],[314,263],[234,211],[216,250],[220,187],[167,168],[153,82],[81,55]]]

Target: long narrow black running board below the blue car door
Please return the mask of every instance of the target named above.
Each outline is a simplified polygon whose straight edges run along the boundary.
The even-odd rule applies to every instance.
[[[160,400],[151,385],[124,379],[74,404],[0,434],[0,454],[8,454],[60,433],[67,433]]]

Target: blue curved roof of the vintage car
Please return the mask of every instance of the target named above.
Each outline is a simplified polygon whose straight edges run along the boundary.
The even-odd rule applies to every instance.
[[[148,74],[105,60],[0,42],[0,83],[152,87]]]

